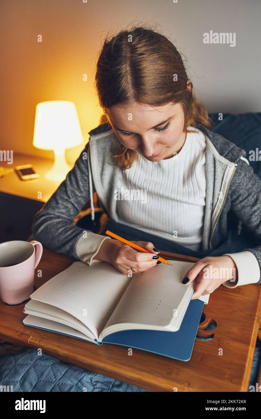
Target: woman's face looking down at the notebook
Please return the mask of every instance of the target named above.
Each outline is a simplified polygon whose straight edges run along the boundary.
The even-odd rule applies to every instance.
[[[132,102],[112,106],[109,114],[109,122],[119,141],[150,161],[171,158],[181,150],[186,139],[184,120],[180,103],[168,103],[155,109]]]

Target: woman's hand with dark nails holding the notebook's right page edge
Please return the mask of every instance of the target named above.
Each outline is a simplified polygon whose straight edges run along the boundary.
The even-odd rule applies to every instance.
[[[200,259],[192,266],[184,276],[191,282],[195,282],[194,294],[191,300],[201,297],[201,295],[211,294],[223,282],[238,280],[238,269],[230,256],[206,257]],[[185,283],[185,282],[183,282]]]

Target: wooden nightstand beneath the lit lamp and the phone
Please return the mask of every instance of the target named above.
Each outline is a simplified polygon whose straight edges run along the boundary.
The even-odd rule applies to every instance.
[[[0,161],[0,166],[8,168],[23,164],[32,164],[39,178],[22,181],[16,172],[0,178],[0,243],[27,240],[35,213],[61,183],[44,178],[52,167],[52,160],[14,153],[12,165]]]

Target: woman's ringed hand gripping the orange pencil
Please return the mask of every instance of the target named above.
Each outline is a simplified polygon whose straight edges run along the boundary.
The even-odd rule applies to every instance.
[[[134,273],[145,272],[157,265],[158,251],[154,245],[146,241],[132,241],[150,253],[140,252],[119,240],[104,240],[94,259],[111,263],[118,271],[128,274],[131,267]],[[152,259],[155,257],[155,259]],[[158,261],[159,262],[159,261]],[[160,264],[159,262],[158,264]]]

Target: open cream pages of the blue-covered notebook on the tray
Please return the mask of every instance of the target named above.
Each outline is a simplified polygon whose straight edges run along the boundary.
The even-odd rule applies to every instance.
[[[126,337],[131,330],[176,332],[194,292],[193,283],[184,285],[181,279],[194,264],[170,262],[173,266],[160,264],[133,277],[106,262],[74,262],[31,294],[23,323],[96,344],[109,342],[106,337],[113,334],[119,337],[119,332]],[[208,297],[202,300],[207,303]],[[204,305],[199,303],[194,329]]]

